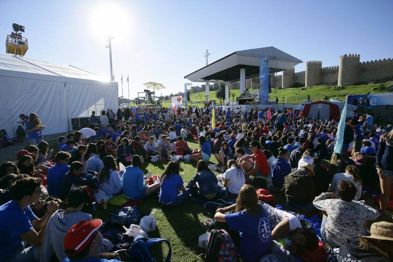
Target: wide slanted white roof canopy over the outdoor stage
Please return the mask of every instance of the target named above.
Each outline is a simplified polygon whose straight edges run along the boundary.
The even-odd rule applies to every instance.
[[[268,56],[270,72],[281,72],[291,69],[302,60],[295,58],[273,46],[235,51],[218,59],[184,78],[192,82],[239,81],[240,69],[246,69],[246,78],[259,75],[259,58]]]

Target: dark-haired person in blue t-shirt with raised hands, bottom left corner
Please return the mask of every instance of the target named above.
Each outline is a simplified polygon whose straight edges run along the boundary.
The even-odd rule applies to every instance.
[[[50,201],[46,214],[38,218],[30,204],[41,197],[42,180],[24,177],[9,187],[11,201],[0,206],[0,260],[39,261],[39,246],[44,239],[48,219],[55,213],[58,204]],[[37,231],[38,232],[37,232]],[[30,246],[25,248],[24,241]]]

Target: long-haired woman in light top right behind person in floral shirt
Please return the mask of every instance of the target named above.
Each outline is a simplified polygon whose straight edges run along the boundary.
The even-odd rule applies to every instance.
[[[357,166],[348,166],[345,169],[345,173],[337,173],[333,176],[332,185],[330,187],[331,192],[335,193],[338,197],[338,184],[340,181],[350,181],[356,187],[356,196],[354,198],[355,201],[359,201],[362,196],[362,184],[363,181],[359,176],[359,169]]]

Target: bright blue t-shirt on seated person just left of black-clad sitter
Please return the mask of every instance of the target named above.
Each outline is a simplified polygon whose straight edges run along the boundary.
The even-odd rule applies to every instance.
[[[62,195],[63,190],[61,184],[63,182],[65,173],[69,171],[70,171],[69,166],[62,165],[59,163],[56,163],[56,165],[48,169],[48,173],[46,176],[46,183],[48,185],[49,195],[55,195],[56,197],[59,198],[67,197]]]

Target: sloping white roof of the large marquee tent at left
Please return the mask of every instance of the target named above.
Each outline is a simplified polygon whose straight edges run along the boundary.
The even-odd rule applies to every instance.
[[[47,81],[115,86],[117,82],[105,81],[102,77],[72,65],[18,58],[0,54],[0,76],[31,78]]]

